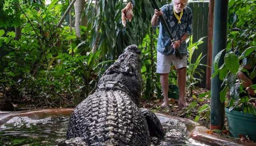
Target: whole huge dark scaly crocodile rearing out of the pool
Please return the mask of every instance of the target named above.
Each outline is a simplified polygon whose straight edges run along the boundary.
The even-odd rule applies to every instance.
[[[67,140],[59,146],[148,146],[150,136],[164,135],[156,115],[138,107],[142,83],[140,62],[136,45],[124,49],[102,75],[95,92],[74,109]]]

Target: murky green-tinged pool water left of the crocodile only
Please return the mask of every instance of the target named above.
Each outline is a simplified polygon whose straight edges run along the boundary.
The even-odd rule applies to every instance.
[[[68,117],[14,117],[0,126],[0,146],[54,146],[66,138]]]

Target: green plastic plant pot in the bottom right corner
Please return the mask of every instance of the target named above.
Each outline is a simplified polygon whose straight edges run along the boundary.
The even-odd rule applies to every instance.
[[[232,136],[238,138],[239,134],[248,135],[250,140],[256,141],[256,116],[238,110],[229,112],[228,107],[225,108],[225,112]]]

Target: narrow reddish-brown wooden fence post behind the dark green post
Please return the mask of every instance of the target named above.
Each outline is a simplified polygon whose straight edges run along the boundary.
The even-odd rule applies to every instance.
[[[209,1],[208,15],[208,40],[207,40],[207,65],[206,67],[206,89],[211,89],[211,68],[212,65],[212,33],[213,33],[214,0]]]

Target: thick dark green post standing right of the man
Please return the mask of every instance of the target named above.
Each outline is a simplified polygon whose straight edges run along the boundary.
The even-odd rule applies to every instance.
[[[228,23],[228,0],[215,0],[214,26],[213,26],[213,50],[212,57],[226,48]],[[213,61],[212,61],[213,62]],[[224,63],[224,54],[220,57],[219,64]],[[214,68],[212,64],[212,74]],[[224,103],[220,102],[222,81],[215,76],[211,83],[211,125],[210,129],[222,129],[224,126]]]

